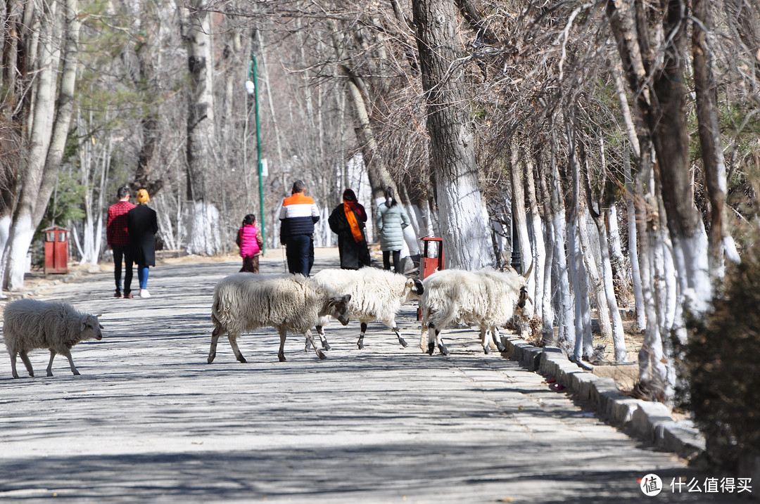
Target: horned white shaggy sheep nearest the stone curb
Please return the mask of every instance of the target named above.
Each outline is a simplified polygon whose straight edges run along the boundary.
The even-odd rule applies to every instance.
[[[515,309],[524,307],[528,299],[525,284],[532,268],[531,264],[524,276],[514,269],[443,269],[427,277],[420,301],[422,351],[432,355],[437,344],[442,354],[448,354],[440,333],[451,324],[477,324],[483,351],[489,353],[492,344],[504,351],[499,327],[515,315]],[[435,339],[429,335],[429,328],[435,329]]]

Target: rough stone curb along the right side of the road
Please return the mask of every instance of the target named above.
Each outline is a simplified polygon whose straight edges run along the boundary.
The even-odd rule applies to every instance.
[[[568,360],[556,347],[535,347],[522,339],[502,337],[511,361],[553,378],[581,401],[596,405],[603,420],[624,427],[660,449],[676,453],[690,464],[704,461],[705,438],[692,421],[676,421],[661,402],[648,402],[622,395],[612,378],[587,373]]]

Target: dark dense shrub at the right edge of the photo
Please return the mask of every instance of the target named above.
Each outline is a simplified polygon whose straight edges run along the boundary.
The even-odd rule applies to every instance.
[[[740,459],[760,455],[760,244],[728,268],[711,313],[690,329],[686,404],[711,458],[736,470]]]

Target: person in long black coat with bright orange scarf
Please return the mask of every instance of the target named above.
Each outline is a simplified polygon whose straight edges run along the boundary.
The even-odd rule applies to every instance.
[[[369,248],[364,235],[367,213],[356,200],[351,189],[343,193],[343,203],[330,214],[328,224],[337,235],[337,250],[340,253],[341,269],[359,269],[369,266]]]

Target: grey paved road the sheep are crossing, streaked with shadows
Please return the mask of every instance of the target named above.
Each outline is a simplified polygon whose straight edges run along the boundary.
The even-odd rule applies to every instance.
[[[262,272],[281,267],[273,258]],[[2,349],[0,501],[708,500],[670,487],[644,496],[644,474],[666,485],[705,474],[589,417],[540,375],[482,354],[475,331],[454,331],[451,356],[423,354],[413,307],[402,313],[408,348],[371,325],[359,351],[358,324],[336,323],[325,361],[292,338],[278,362],[279,339],[263,329],[241,339],[248,364],[226,340],[206,364],[213,287],[238,268],[158,266],[150,299],[111,298],[106,273],[46,291],[103,313],[106,329],[72,351],[81,376],[60,357],[44,376],[48,354],[36,351],[38,377],[11,380]]]

